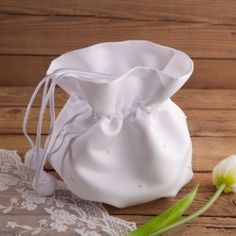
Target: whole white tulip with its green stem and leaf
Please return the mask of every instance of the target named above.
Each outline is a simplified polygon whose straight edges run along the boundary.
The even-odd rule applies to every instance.
[[[173,210],[174,207],[178,206],[177,210],[178,211],[181,210],[181,204],[179,202],[176,205],[174,205],[172,208],[167,209],[163,214],[160,214],[159,216],[154,217],[149,222],[140,226],[135,231],[132,231],[130,234],[128,234],[128,236],[129,235],[130,236],[131,235],[132,236],[140,236],[140,235],[157,236],[157,235],[160,235],[160,234],[162,234],[168,230],[171,230],[179,225],[187,223],[190,220],[203,214],[205,211],[207,211],[212,206],[212,204],[218,199],[218,197],[222,194],[222,192],[225,192],[225,193],[236,192],[236,155],[232,155],[232,156],[220,161],[213,169],[212,179],[213,179],[213,184],[216,186],[217,190],[216,190],[215,194],[210,198],[210,200],[203,207],[201,207],[199,210],[195,211],[191,215],[188,215],[186,217],[182,217],[182,219],[177,218],[172,223],[170,223],[168,221],[170,221],[170,219],[173,220],[173,218],[176,217],[177,211]],[[191,202],[190,202],[190,204],[191,204]],[[164,216],[164,214],[167,214],[167,216],[166,215]],[[164,220],[165,220],[165,222],[163,223]],[[160,224],[158,226],[158,224],[157,224],[157,226],[155,226],[155,221],[157,223],[162,223],[162,225]],[[151,232],[151,231],[153,231],[153,232],[148,233],[148,234],[144,234],[144,232]]]

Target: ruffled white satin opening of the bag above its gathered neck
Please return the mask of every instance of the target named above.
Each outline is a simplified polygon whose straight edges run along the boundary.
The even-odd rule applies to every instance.
[[[47,74],[74,69],[93,75],[60,82],[68,94],[83,96],[99,115],[109,115],[141,104],[159,104],[170,98],[193,71],[183,52],[148,41],[101,43],[56,58]]]

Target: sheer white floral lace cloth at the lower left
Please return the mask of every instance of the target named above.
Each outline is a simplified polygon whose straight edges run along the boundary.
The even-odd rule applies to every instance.
[[[0,149],[1,235],[120,236],[136,228],[100,203],[79,199],[61,181],[52,196],[37,195],[33,176],[16,151]]]

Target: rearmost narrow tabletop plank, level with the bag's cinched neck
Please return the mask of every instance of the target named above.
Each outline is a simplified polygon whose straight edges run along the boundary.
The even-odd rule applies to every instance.
[[[26,107],[34,91],[33,87],[0,87],[0,107]],[[60,88],[56,90],[56,107],[62,107],[68,96]],[[173,101],[182,109],[194,110],[235,110],[235,89],[181,89]],[[36,97],[33,107],[41,104],[41,94]]]

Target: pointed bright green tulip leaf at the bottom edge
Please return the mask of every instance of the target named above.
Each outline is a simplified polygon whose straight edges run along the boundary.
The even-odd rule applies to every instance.
[[[196,196],[198,187],[199,184],[197,184],[190,193],[188,193],[184,198],[179,200],[175,205],[168,208],[160,215],[155,216],[150,221],[140,226],[136,230],[130,232],[128,236],[148,236],[178,221],[183,215],[183,213],[192,204]]]

